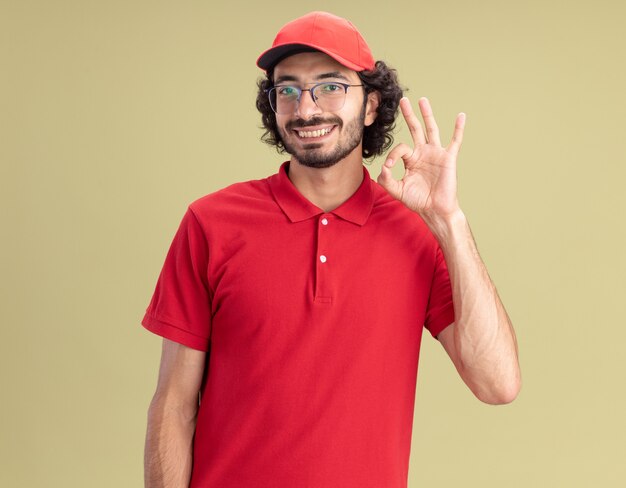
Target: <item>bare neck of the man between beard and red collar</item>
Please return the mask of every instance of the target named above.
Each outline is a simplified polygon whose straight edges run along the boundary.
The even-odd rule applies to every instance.
[[[289,179],[313,205],[330,212],[359,188],[363,181],[363,163],[360,157],[347,157],[329,168],[310,168],[292,157]]]

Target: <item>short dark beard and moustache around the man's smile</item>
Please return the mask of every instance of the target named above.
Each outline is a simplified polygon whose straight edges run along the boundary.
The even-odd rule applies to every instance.
[[[278,128],[285,150],[291,154],[300,164],[308,166],[309,168],[329,168],[337,164],[342,159],[346,158],[363,140],[363,129],[365,122],[365,108],[366,104],[363,104],[361,113],[348,122],[345,127],[343,121],[339,117],[321,119],[312,118],[308,121],[293,120],[286,125],[286,130],[291,132],[291,137],[298,137],[293,133],[293,127],[311,127],[315,125],[336,124],[337,127],[334,130],[345,130],[345,140],[340,141],[329,153],[318,151],[323,144],[312,142],[306,144],[301,150],[290,144],[285,137],[285,129]]]

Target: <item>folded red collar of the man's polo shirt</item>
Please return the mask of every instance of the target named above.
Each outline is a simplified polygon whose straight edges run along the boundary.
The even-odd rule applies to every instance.
[[[268,183],[276,203],[292,222],[301,222],[316,215],[324,213],[324,210],[307,200],[294,186],[287,176],[289,161],[285,161],[278,173],[268,178]],[[352,222],[363,225],[372,212],[374,204],[372,179],[363,167],[363,181],[348,200],[343,202],[335,210],[329,213]]]

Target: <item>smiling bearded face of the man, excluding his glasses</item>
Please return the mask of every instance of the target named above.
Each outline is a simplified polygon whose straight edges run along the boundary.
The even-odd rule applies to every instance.
[[[275,85],[310,88],[322,81],[361,84],[355,71],[321,52],[294,54],[274,68]],[[276,114],[276,123],[293,158],[304,166],[328,168],[351,154],[361,158],[363,127],[375,118],[367,110],[363,87],[349,87],[345,104],[335,112],[322,111],[306,91],[296,111]]]

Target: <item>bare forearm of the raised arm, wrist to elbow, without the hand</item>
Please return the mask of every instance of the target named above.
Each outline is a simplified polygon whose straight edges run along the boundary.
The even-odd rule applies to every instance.
[[[439,241],[452,283],[455,366],[481,400],[511,401],[521,383],[515,332],[465,215],[459,210],[425,220]]]

